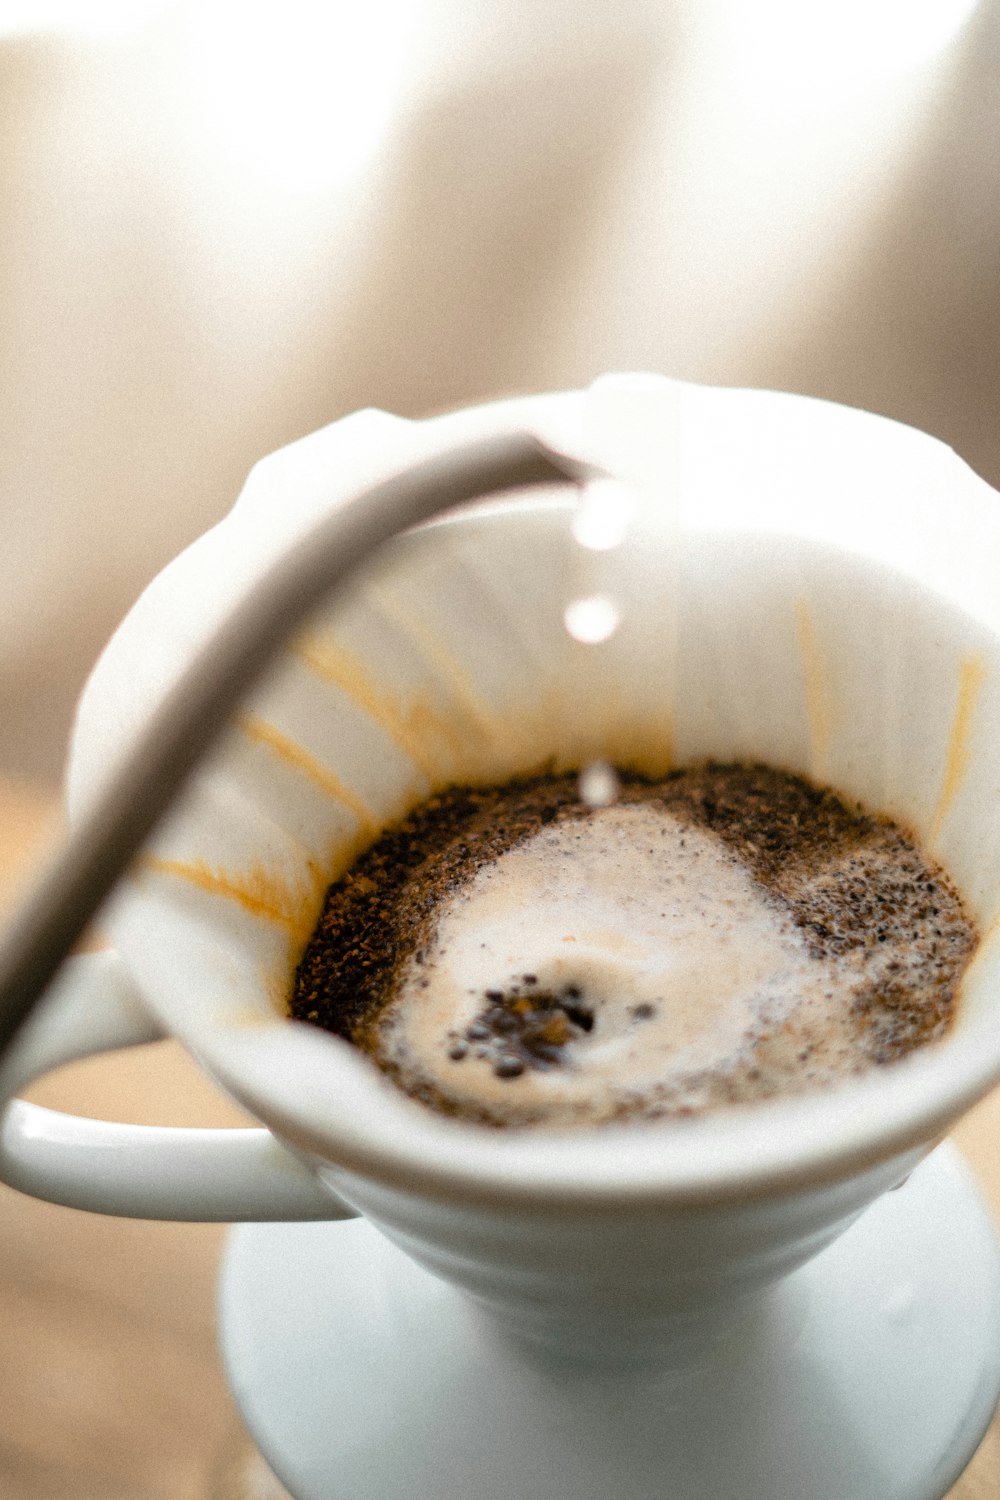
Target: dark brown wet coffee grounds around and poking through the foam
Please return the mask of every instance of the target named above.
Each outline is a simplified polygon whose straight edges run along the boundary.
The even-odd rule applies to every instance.
[[[628,804],[660,804],[682,825],[711,832],[811,957],[856,969],[849,1004],[867,1065],[892,1062],[946,1032],[978,932],[948,876],[897,824],[762,765],[706,764],[660,782],[624,776],[619,806]],[[540,830],[591,816],[598,814],[580,801],[576,776],[450,788],[414,808],[330,888],[295,975],[292,1016],[366,1048],[397,1076],[381,1054],[382,1020],[403,968],[424,963],[444,903]],[[486,1060],[501,1080],[562,1068],[595,1024],[577,986],[544,986],[531,972],[483,990],[475,1006],[472,1020],[448,1032],[447,1056],[460,1070]],[[631,1016],[642,1023],[654,1010],[636,1005]],[[747,1077],[766,1077],[774,1050],[766,1028],[754,1046],[762,1068]],[[801,1060],[808,1064],[808,1048]],[[397,1082],[445,1113],[505,1124],[489,1108],[456,1106],[426,1080]],[[724,1101],[727,1088],[717,1080]],[[624,1113],[690,1110],[661,1100],[655,1108],[636,1101]]]

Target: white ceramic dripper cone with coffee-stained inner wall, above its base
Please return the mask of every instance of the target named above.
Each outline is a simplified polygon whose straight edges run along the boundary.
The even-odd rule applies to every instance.
[[[987,486],[880,418],[669,381],[417,424],[352,418],[262,464],[232,516],[136,606],[84,698],[70,804],[331,489],[511,424],[627,472],[639,453],[628,477],[678,496],[678,528],[640,504],[600,572],[558,492],[406,537],[286,652],[109,914],[129,975],[103,960],[118,994],[135,987],[283,1146],[91,1126],[105,1160],[120,1143],[120,1170],[100,1178],[79,1126],[63,1134],[82,1170],[51,1132],[31,1154],[22,1130],[7,1132],[4,1170],[109,1212],[360,1210],[529,1341],[670,1362],[822,1251],[1000,1076],[991,934],[954,1036],[892,1074],[667,1130],[565,1137],[421,1110],[346,1046],[283,1020],[291,966],[330,876],[433,784],[592,756],[651,771],[763,759],[831,780],[912,824],[988,927],[1000,906],[1000,526]],[[645,430],[667,441],[645,444]],[[592,650],[567,636],[562,612],[595,579],[622,624]],[[114,1036],[109,1022],[99,1040]],[[984,1250],[985,1281],[988,1262]]]

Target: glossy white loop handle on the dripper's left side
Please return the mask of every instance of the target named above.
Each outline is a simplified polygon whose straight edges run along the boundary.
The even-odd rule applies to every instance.
[[[123,1218],[264,1222],[354,1218],[264,1128],[118,1125],[12,1095],[76,1058],[157,1041],[117,952],[70,958],[0,1066],[0,1180],[66,1208]]]

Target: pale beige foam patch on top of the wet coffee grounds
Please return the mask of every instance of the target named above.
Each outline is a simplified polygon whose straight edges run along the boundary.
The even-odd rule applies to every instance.
[[[753,1084],[765,1032],[771,1071],[793,1076],[804,1048],[814,1076],[850,1066],[856,1038],[825,1004],[844,987],[838,968],[810,958],[718,838],[663,807],[601,808],[544,828],[451,897],[423,962],[403,968],[379,1052],[405,1088],[426,1082],[466,1108],[580,1122],[639,1101],[703,1108],[723,1080]],[[531,1004],[532,990],[589,1018],[570,1022],[558,1062],[511,1076],[502,1030],[451,1056],[487,996]]]

